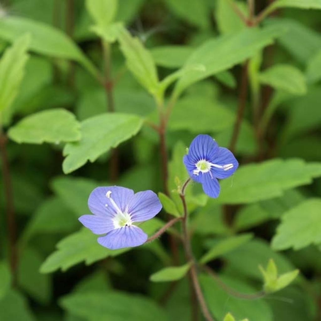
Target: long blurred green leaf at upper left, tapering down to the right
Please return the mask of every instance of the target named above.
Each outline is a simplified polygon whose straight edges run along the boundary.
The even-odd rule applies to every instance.
[[[9,15],[0,18],[0,38],[14,41],[24,32],[31,34],[30,50],[50,57],[75,60],[97,76],[96,67],[61,30],[23,17]]]

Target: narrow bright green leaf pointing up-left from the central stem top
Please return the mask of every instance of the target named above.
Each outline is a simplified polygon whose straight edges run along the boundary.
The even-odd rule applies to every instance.
[[[128,69],[147,91],[155,95],[158,91],[158,76],[151,53],[138,38],[132,37],[123,26],[118,28],[117,39],[120,50],[126,58]]]

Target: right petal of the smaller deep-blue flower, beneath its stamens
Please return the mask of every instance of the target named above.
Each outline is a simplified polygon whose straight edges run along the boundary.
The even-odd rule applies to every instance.
[[[233,167],[228,170],[212,167],[211,171],[216,178],[227,178],[231,176],[239,167],[239,162],[236,160],[233,153],[225,147],[219,147],[219,151],[216,157],[213,160],[211,160],[211,162],[213,164],[217,164],[221,166],[227,165],[227,164],[233,164]]]

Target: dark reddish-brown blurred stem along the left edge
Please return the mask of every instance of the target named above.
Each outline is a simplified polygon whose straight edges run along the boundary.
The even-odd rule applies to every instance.
[[[16,219],[13,206],[13,193],[10,176],[10,167],[7,157],[7,137],[3,134],[0,127],[0,154],[2,159],[2,173],[4,178],[4,193],[7,205],[7,224],[9,232],[9,253],[10,253],[10,267],[13,275],[13,285],[16,284],[16,271],[18,265],[18,252],[16,247]]]

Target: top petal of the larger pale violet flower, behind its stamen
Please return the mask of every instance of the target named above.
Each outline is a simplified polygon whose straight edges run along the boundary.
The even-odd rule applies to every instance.
[[[126,205],[128,204],[131,197],[134,195],[134,191],[129,188],[120,187],[120,186],[104,186],[95,188],[88,199],[88,207],[91,210],[91,213],[96,215],[105,216],[112,215],[114,216],[117,213],[113,204],[106,196],[106,193],[111,191],[110,197],[115,201],[117,206],[125,212]],[[106,206],[106,204],[108,206]]]

